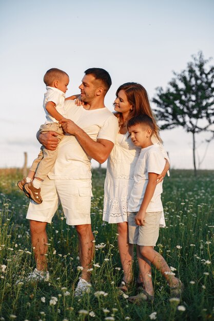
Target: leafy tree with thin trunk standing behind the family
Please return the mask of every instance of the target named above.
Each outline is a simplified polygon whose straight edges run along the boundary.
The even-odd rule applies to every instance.
[[[204,59],[201,51],[192,58],[193,61],[180,74],[173,72],[174,77],[166,91],[162,87],[156,88],[152,101],[157,105],[154,112],[161,121],[161,129],[182,126],[186,132],[192,133],[196,175],[196,134],[209,132],[207,142],[214,138],[214,66],[206,66],[211,58]]]

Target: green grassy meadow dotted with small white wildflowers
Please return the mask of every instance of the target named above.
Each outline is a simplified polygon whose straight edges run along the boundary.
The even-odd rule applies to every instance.
[[[0,320],[214,320],[214,171],[171,170],[164,180],[167,227],[156,250],[166,258],[185,289],[170,299],[169,287],[152,269],[153,303],[141,306],[119,295],[121,269],[116,226],[102,221],[105,169],[93,170],[91,205],[95,258],[92,287],[83,297],[73,291],[80,275],[75,229],[61,208],[48,226],[49,282],[26,282],[35,267],[25,219],[28,198],[18,190],[20,170],[0,170]],[[138,274],[134,259],[134,274]],[[136,292],[135,283],[130,295]]]

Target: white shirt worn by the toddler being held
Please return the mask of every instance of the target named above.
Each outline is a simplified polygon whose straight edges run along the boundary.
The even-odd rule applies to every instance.
[[[44,101],[43,101],[43,108],[46,113],[46,119],[47,121],[45,124],[51,124],[51,123],[58,123],[54,117],[52,117],[48,111],[46,110],[45,106],[48,102],[53,102],[56,106],[55,109],[57,112],[59,112],[63,117],[66,118],[66,111],[64,107],[65,103],[65,93],[55,87],[46,87],[47,91],[44,94]]]

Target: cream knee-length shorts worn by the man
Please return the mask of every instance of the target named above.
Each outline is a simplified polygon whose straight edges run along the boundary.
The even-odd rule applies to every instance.
[[[68,225],[91,224],[91,179],[49,179],[41,186],[42,204],[32,200],[27,219],[50,223],[58,205],[62,204]]]

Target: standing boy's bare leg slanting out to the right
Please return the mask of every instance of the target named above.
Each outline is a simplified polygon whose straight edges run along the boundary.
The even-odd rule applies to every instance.
[[[165,277],[170,287],[178,284],[178,278],[172,272],[163,256],[156,252],[152,246],[140,246],[141,255],[147,258]]]

